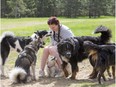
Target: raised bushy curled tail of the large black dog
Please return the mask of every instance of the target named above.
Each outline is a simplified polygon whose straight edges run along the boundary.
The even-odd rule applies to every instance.
[[[109,42],[110,38],[112,37],[111,30],[102,25],[96,28],[94,34],[96,33],[101,33],[100,41],[102,41],[103,44]]]

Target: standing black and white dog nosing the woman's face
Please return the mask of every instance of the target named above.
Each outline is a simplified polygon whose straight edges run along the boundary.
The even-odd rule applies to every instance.
[[[21,52],[26,45],[28,45],[31,41],[36,38],[40,38],[43,42],[44,38],[49,36],[50,32],[46,30],[36,31],[32,36],[28,37],[18,37],[15,36],[13,32],[4,32],[0,39],[0,47],[1,47],[1,58],[0,58],[0,75],[4,76],[4,65],[5,61],[8,58],[10,53],[10,49],[13,48],[17,52]]]

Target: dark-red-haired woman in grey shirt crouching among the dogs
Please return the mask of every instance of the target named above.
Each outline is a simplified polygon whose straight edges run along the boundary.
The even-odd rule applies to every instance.
[[[62,71],[62,61],[57,52],[57,44],[63,39],[74,36],[72,31],[67,26],[60,24],[59,20],[56,17],[49,18],[47,23],[49,25],[50,30],[52,31],[51,44],[49,46],[46,46],[43,50],[39,77],[43,77],[45,75],[44,68],[49,55],[55,56],[57,58],[59,71]]]

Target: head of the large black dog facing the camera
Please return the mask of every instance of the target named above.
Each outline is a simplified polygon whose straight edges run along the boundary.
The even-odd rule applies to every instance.
[[[79,43],[74,38],[68,38],[63,40],[57,45],[58,52],[61,56],[70,59],[72,55],[76,52],[78,47],[76,47]]]

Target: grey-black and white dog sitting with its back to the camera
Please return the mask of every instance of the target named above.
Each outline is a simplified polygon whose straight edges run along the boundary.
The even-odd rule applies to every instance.
[[[42,42],[40,38],[35,39],[26,45],[18,55],[14,69],[10,72],[9,78],[13,83],[25,83],[35,80],[35,65],[39,48]],[[30,68],[33,75],[30,74]]]

